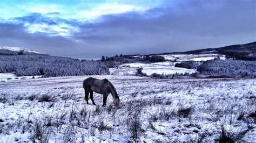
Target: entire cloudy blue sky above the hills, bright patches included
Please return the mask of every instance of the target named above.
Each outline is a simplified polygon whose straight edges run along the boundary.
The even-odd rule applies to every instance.
[[[0,2],[0,46],[78,59],[256,41],[256,1]]]

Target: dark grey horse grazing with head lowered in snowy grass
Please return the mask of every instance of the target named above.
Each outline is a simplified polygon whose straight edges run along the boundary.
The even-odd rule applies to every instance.
[[[116,88],[114,88],[113,84],[111,82],[109,82],[106,78],[104,80],[98,80],[96,78],[86,78],[83,81],[83,88],[84,88],[84,92],[85,92],[85,100],[86,103],[88,103],[88,96],[90,93],[90,99],[92,101],[93,105],[96,105],[95,102],[93,101],[93,91],[95,91],[98,94],[103,94],[103,105],[106,105],[106,99],[107,96],[111,93],[111,95],[113,96],[113,102],[114,102],[114,106],[116,106],[117,108],[119,108],[119,103],[120,103],[120,99],[117,95],[117,91]]]

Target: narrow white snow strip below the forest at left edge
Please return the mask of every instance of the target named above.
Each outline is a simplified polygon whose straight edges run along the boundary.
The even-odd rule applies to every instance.
[[[13,80],[26,80],[26,79],[32,79],[32,78],[39,78],[42,77],[41,75],[35,75],[35,76],[16,76],[15,74],[8,74],[8,73],[0,73],[0,81],[13,81]]]

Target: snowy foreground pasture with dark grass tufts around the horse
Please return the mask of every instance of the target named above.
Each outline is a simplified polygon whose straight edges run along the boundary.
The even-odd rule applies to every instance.
[[[106,107],[99,94],[98,106],[85,104],[87,77],[1,82],[0,142],[213,142],[223,133],[235,141],[256,141],[255,78],[93,76],[116,87],[121,101],[116,109],[111,95]]]

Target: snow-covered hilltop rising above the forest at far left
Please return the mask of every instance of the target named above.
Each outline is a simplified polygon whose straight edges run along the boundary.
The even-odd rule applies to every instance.
[[[0,54],[45,54],[42,52],[34,51],[33,49],[29,48],[22,48],[22,47],[6,47],[6,46],[0,46]]]

